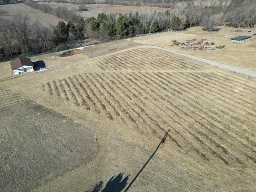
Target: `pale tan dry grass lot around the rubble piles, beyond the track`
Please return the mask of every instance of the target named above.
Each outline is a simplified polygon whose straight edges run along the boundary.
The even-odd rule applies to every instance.
[[[242,68],[245,70],[256,72],[255,66],[255,54],[256,54],[256,30],[241,30],[241,32],[235,32],[231,27],[219,27],[220,30],[216,32],[206,32],[202,30],[202,27],[192,27],[185,31],[180,32],[164,32],[147,36],[140,36],[133,38],[134,42],[146,45],[155,45],[163,48],[175,50],[198,58],[204,58],[214,62]],[[236,44],[230,43],[230,38],[236,36],[252,36],[250,42]],[[214,48],[216,46],[225,45],[225,48],[219,50],[207,50],[207,51],[189,51],[182,50],[181,46],[171,47],[172,40],[178,42],[186,42],[186,40],[201,40],[207,39],[214,41]]]

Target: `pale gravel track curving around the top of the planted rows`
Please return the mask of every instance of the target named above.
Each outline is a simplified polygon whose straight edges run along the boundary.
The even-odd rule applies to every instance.
[[[92,61],[92,60],[96,60],[96,59],[112,56],[114,54],[130,51],[130,50],[134,50],[134,49],[141,49],[141,48],[154,48],[154,49],[160,49],[160,50],[168,51],[168,52],[171,52],[171,53],[174,53],[174,54],[178,54],[178,55],[185,56],[185,57],[188,57],[188,58],[191,58],[191,59],[194,59],[194,60],[198,60],[200,62],[204,62],[204,63],[210,64],[212,66],[216,66],[216,67],[219,67],[219,68],[230,70],[232,72],[238,72],[238,73],[247,74],[247,75],[256,77],[256,72],[244,70],[244,69],[241,69],[241,68],[237,68],[237,67],[221,64],[221,63],[218,63],[218,62],[210,61],[210,60],[203,59],[203,58],[198,58],[198,57],[195,57],[195,56],[192,56],[192,55],[188,55],[188,54],[184,54],[184,53],[181,53],[181,52],[178,52],[178,51],[174,51],[174,50],[170,50],[170,49],[166,49],[166,48],[162,48],[162,47],[158,47],[158,46],[152,46],[152,45],[136,46],[136,47],[120,50],[120,51],[117,51],[117,52],[113,52],[113,53],[110,53],[110,54],[105,54],[105,55],[97,56],[97,57],[94,57],[94,58],[80,60],[78,62],[69,63],[69,64],[65,64],[65,65],[62,65],[62,66],[52,67],[52,68],[47,69],[46,71],[48,71],[48,70],[55,70],[55,69],[59,69],[59,68],[64,68],[66,66],[76,65],[76,64],[79,64],[79,63],[82,63],[82,62],[89,62],[89,61]],[[40,72],[40,71],[37,71],[37,72]],[[22,74],[22,76],[23,75],[32,75],[32,74],[34,74],[34,72],[27,73],[27,74]],[[8,79],[11,79],[11,78],[17,78],[17,77],[18,76],[11,76],[11,77],[8,77],[8,78],[5,78],[5,79],[1,79],[0,82],[8,80]]]

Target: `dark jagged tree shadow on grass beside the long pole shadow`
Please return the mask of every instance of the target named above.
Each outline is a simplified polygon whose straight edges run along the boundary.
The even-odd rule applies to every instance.
[[[113,176],[108,183],[106,184],[105,188],[102,192],[121,192],[125,186],[127,185],[127,180],[129,176],[126,176],[123,179],[123,173],[118,174],[118,176]],[[123,180],[122,180],[123,179]]]

